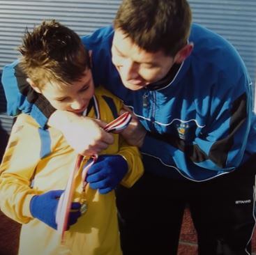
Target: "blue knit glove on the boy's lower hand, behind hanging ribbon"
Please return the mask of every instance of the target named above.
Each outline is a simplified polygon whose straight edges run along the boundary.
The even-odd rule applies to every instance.
[[[55,217],[59,197],[62,193],[63,190],[51,190],[50,192],[33,196],[29,206],[31,215],[52,227],[52,229],[57,229]],[[72,203],[71,209],[75,211],[72,211],[69,214],[68,228],[69,226],[75,224],[77,219],[81,216],[80,208],[80,203]]]

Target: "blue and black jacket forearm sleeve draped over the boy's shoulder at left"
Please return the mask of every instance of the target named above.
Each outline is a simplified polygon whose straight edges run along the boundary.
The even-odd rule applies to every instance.
[[[17,116],[20,112],[29,114],[40,127],[46,127],[48,118],[55,109],[43,95],[33,91],[18,63],[19,61],[15,61],[3,68],[1,82],[6,94],[7,113],[11,116]]]

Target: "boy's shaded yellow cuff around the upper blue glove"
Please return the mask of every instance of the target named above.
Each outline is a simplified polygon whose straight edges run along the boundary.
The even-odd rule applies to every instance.
[[[120,141],[120,149],[117,154],[122,155],[128,163],[128,173],[126,173],[126,176],[121,180],[121,185],[132,187],[144,173],[142,155],[137,147],[127,144],[121,136]]]

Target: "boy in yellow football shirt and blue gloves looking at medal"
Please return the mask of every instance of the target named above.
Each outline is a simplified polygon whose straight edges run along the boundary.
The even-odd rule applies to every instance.
[[[43,95],[52,107],[81,118],[86,114],[105,123],[116,118],[121,102],[103,88],[93,95],[89,54],[75,32],[54,20],[43,22],[25,33],[20,52],[22,70],[33,88],[30,93]],[[101,153],[110,155],[99,155],[88,171],[90,187],[83,191],[82,167],[75,177],[73,210],[65,235],[70,254],[121,254],[111,190],[120,181],[130,187],[143,170],[137,148],[113,135],[113,144]],[[17,117],[0,168],[0,205],[8,217],[23,224],[20,255],[59,254],[55,216],[75,157],[61,132],[41,129],[26,114]],[[88,209],[81,215],[84,199]]]

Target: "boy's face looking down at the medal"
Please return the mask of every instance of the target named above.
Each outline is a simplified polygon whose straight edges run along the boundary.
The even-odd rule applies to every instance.
[[[82,114],[94,93],[91,70],[87,68],[82,78],[70,85],[49,82],[40,92],[54,108]]]

